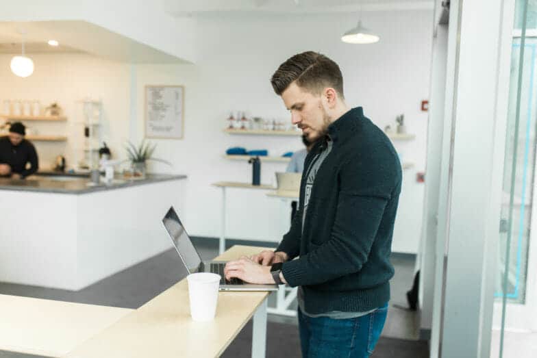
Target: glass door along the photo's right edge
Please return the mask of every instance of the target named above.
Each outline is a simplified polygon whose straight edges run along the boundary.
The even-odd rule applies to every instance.
[[[517,0],[491,357],[537,357],[537,0]]]

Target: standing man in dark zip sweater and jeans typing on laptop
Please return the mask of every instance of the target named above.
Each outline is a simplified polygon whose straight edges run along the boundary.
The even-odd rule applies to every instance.
[[[292,123],[316,144],[290,231],[275,252],[228,263],[225,276],[299,286],[303,357],[369,357],[390,299],[401,164],[362,107],[347,107],[340,68],[325,55],[292,56],[271,81]]]

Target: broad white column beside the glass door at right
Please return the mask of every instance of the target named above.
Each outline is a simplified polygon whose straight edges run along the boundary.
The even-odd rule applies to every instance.
[[[488,357],[497,266],[506,105],[501,55],[511,0],[451,1],[455,81],[447,183],[442,357]],[[513,3],[514,5],[514,3]],[[440,227],[439,230],[442,228]],[[438,304],[438,302],[436,302]]]

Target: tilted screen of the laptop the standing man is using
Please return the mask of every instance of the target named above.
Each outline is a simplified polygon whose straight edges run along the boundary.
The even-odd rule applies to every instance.
[[[173,207],[168,210],[168,213],[162,219],[162,223],[166,227],[166,231],[168,231],[173,245],[183,260],[188,272],[197,272],[201,264],[201,257],[199,257],[199,253],[196,251],[192,241],[190,241],[188,233],[186,233]]]

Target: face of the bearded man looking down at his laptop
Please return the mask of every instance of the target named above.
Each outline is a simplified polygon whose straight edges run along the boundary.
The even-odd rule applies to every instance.
[[[292,124],[302,129],[309,142],[313,143],[327,133],[330,120],[321,95],[311,94],[292,82],[282,92],[282,99],[291,112]]]

